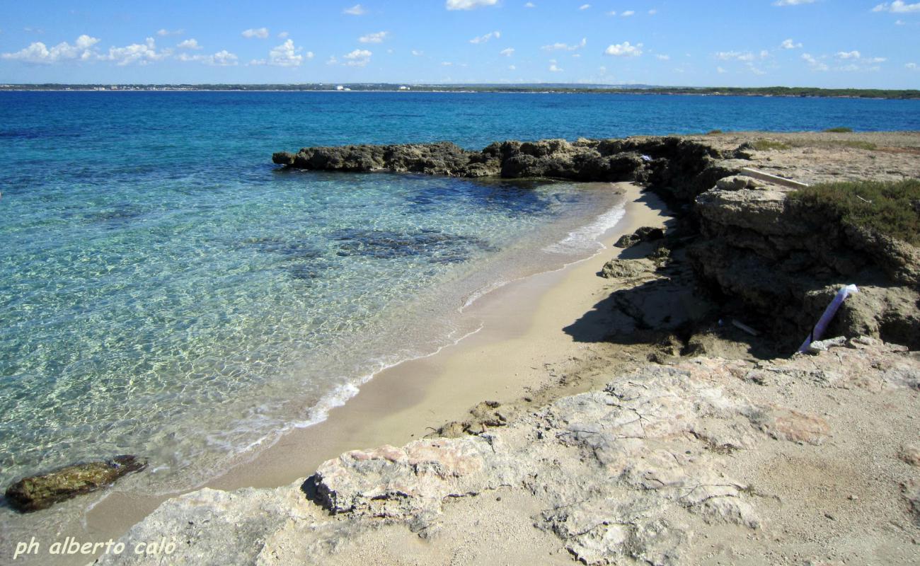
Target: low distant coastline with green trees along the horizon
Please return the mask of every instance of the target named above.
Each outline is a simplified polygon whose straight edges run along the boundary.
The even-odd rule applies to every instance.
[[[816,87],[652,87],[648,85],[411,85],[399,83],[303,83],[303,84],[206,84],[206,85],[148,85],[148,84],[0,84],[0,91],[378,91],[378,92],[469,92],[469,93],[556,93],[556,94],[640,94],[733,97],[788,98],[920,98],[920,90],[881,88],[816,88]]]

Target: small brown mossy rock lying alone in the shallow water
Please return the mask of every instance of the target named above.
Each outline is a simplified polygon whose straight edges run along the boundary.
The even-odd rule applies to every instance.
[[[74,464],[18,480],[6,489],[6,501],[21,513],[39,511],[81,493],[104,488],[116,479],[146,467],[145,458],[130,455]]]

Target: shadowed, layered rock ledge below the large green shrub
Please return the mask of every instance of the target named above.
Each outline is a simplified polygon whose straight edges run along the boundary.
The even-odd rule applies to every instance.
[[[763,318],[793,347],[839,288],[857,283],[830,332],[920,348],[920,249],[840,225],[748,178],[719,180],[696,197],[696,272],[727,309]]]

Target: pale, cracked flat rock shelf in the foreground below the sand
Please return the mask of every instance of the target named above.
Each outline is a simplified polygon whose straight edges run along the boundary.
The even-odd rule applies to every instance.
[[[178,543],[171,564],[353,563],[358,549],[379,552],[381,536],[424,537],[428,548],[450,549],[453,537],[464,546],[471,535],[488,537],[473,529],[492,514],[506,523],[523,514],[519,522],[532,529],[526,537],[585,564],[699,563],[714,545],[746,563],[763,556],[764,538],[774,560],[791,556],[791,533],[813,514],[831,526],[802,527],[811,553],[814,537],[827,537],[831,549],[835,540],[853,543],[847,552],[870,541],[868,554],[851,557],[856,562],[876,545],[909,551],[913,531],[888,525],[910,520],[915,468],[897,445],[864,437],[874,429],[843,427],[857,403],[867,418],[884,413],[886,427],[913,430],[920,359],[868,338],[835,343],[815,355],[757,364],[696,358],[638,365],[602,390],[518,413],[478,434],[351,451],[276,490],[183,495],[122,541],[132,548],[166,533]],[[902,406],[891,410],[892,402]],[[840,466],[866,474],[858,480],[866,483],[853,488],[845,477],[824,477],[841,457]],[[776,463],[789,458],[792,468]],[[802,507],[811,486],[799,481],[813,466],[822,476],[810,480],[830,487],[809,503],[816,508]],[[885,497],[896,504],[880,502],[858,517],[862,507],[851,505],[854,517],[841,523],[824,517],[840,514],[838,506],[857,493],[868,498],[861,505]],[[458,509],[464,500],[471,506]],[[125,553],[99,563],[158,560]]]

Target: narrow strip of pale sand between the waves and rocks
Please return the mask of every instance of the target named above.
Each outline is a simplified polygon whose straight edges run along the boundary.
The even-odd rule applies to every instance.
[[[603,317],[566,329],[614,290],[614,283],[597,276],[621,251],[613,242],[639,226],[663,225],[668,219],[664,204],[653,194],[629,183],[617,183],[616,188],[625,193],[626,214],[601,237],[604,249],[597,255],[481,297],[467,309],[484,322],[476,334],[430,357],[381,372],[344,406],[331,410],[325,422],[287,433],[255,460],[230,469],[207,487],[286,485],[348,450],[404,445],[444,422],[463,420],[480,401],[510,402],[558,386],[567,367],[578,367],[592,357],[593,349],[604,348],[593,343],[609,330],[596,322]],[[83,538],[119,537],[164,500],[114,492],[87,514]]]

